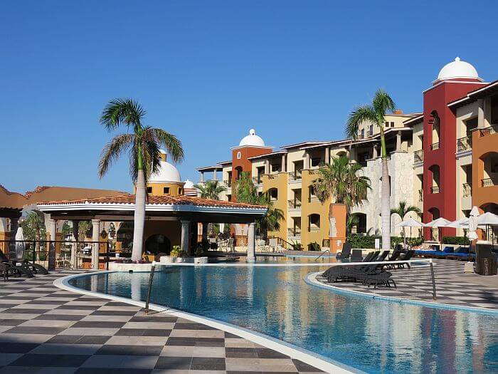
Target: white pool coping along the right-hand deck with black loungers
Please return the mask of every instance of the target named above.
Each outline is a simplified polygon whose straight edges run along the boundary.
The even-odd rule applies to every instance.
[[[338,294],[349,294],[352,296],[359,296],[364,298],[372,298],[376,300],[382,301],[391,301],[393,303],[406,303],[410,305],[416,306],[425,306],[427,308],[438,308],[438,309],[446,309],[452,311],[467,311],[467,312],[475,312],[481,314],[489,314],[492,316],[498,316],[498,310],[488,309],[488,308],[480,308],[479,306],[460,306],[460,305],[452,305],[447,303],[435,303],[433,301],[423,301],[423,300],[412,300],[410,298],[401,298],[396,296],[386,296],[386,295],[377,295],[377,294],[367,294],[366,292],[354,291],[349,289],[341,289],[336,286],[332,286],[332,284],[324,284],[321,281],[317,280],[317,276],[321,274],[322,271],[314,271],[312,273],[304,276],[304,282],[311,286],[319,287],[321,289],[328,289],[329,291],[337,292]]]

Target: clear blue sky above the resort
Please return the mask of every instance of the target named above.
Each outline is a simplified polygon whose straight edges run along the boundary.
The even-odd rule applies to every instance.
[[[267,145],[343,136],[379,87],[405,112],[455,56],[498,78],[494,1],[2,1],[0,184],[130,191],[97,177],[107,100],[131,97],[177,135],[179,170]]]

